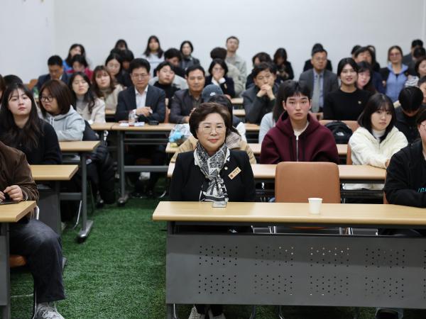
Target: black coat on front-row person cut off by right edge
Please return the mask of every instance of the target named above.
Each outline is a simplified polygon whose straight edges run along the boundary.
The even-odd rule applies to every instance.
[[[393,155],[384,191],[389,203],[426,207],[426,161],[421,140]]]

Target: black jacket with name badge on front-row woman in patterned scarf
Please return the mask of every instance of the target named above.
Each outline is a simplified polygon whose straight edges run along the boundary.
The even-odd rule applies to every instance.
[[[229,164],[222,169],[229,201],[254,201],[256,190],[249,155],[243,151],[230,150]],[[239,167],[241,172],[229,178],[229,174]],[[226,169],[227,168],[227,169]],[[170,184],[171,201],[200,201],[200,191],[204,182],[200,167],[194,164],[194,151],[183,152],[176,158],[175,170]]]

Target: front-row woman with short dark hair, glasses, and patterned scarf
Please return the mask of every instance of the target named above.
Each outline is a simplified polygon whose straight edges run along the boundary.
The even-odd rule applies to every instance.
[[[255,186],[249,155],[229,150],[231,116],[222,105],[202,103],[190,116],[190,130],[198,139],[194,151],[178,155],[170,184],[172,201],[254,201]],[[222,306],[211,305],[209,318],[222,318]],[[206,306],[192,308],[190,318],[202,319]]]

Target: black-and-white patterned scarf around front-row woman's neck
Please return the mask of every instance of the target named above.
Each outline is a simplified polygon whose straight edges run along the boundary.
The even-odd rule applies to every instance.
[[[220,172],[226,162],[229,162],[230,152],[226,144],[217,150],[214,155],[209,156],[204,147],[197,142],[194,151],[195,165],[200,167],[206,179],[202,183],[200,201],[228,201],[228,192]]]

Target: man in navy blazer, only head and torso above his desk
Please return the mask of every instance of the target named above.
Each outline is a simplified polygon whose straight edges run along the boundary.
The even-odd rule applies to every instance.
[[[148,84],[151,66],[145,59],[134,59],[129,65],[133,86],[119,93],[115,119],[127,121],[129,112],[135,110],[138,121],[164,122],[165,93],[162,89]]]

